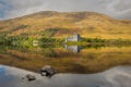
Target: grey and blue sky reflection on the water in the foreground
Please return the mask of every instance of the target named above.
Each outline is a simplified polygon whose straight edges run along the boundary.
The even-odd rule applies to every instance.
[[[26,74],[36,76],[27,82]],[[131,87],[131,66],[117,66],[97,74],[57,74],[51,78],[39,74],[0,66],[0,87]]]

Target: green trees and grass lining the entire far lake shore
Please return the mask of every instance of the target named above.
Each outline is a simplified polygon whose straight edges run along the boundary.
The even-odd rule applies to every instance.
[[[81,41],[68,41],[66,42],[64,38],[51,38],[51,37],[43,37],[43,38],[31,38],[24,36],[17,37],[0,37],[1,45],[19,45],[19,46],[33,46],[33,41],[37,40],[40,45],[43,44],[56,44],[56,45],[78,45],[78,46],[86,46],[86,45],[131,45],[131,39],[99,39],[99,38],[83,38]]]

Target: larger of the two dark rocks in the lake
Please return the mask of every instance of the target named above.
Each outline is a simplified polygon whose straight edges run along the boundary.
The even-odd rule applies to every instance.
[[[52,76],[56,74],[56,71],[50,65],[46,65],[40,70],[40,74],[41,76]]]

